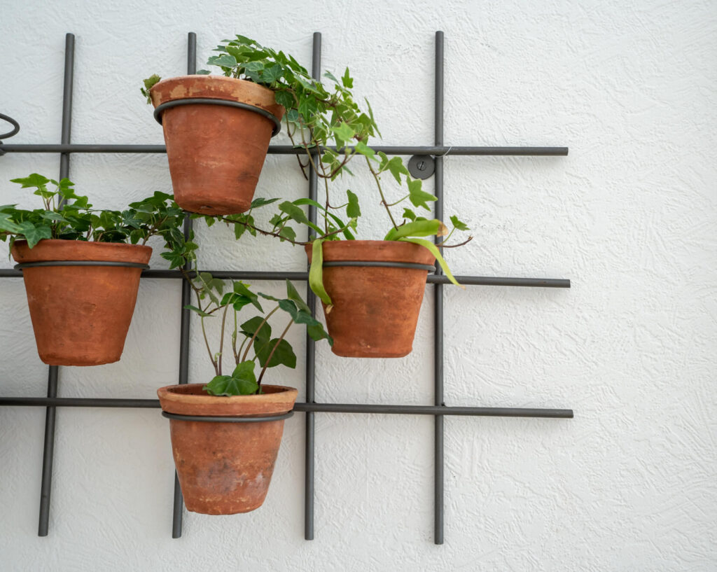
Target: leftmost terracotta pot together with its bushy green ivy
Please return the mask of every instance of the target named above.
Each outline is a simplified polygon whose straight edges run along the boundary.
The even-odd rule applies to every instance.
[[[35,189],[43,203],[0,206],[0,240],[9,239],[22,270],[40,359],[52,366],[118,361],[149,267],[146,242],[181,235],[183,211],[163,193],[124,211],[96,210],[67,178],[32,173],[11,182]]]

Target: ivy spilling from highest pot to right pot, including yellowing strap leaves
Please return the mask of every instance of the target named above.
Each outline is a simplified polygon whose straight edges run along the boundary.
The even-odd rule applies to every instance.
[[[321,244],[326,240],[356,239],[361,217],[359,196],[346,189],[343,194],[339,192],[336,199],[331,195],[331,187],[336,186],[344,174],[353,175],[349,165],[353,166],[358,161],[364,163],[371,173],[381,205],[391,223],[384,240],[414,242],[426,247],[436,257],[445,275],[458,284],[442,257],[440,247],[455,247],[469,242],[472,237],[460,244],[447,244],[456,230],[467,231],[467,225],[457,216],[451,216],[452,229],[449,232],[442,221],[420,216],[414,211],[430,211],[432,202],[437,198],[424,191],[421,180],[410,176],[402,158],[389,158],[369,146],[369,139],[380,137],[381,133],[369,101],[364,100],[365,110],[356,103],[352,92],[353,77],[348,67],[341,78],[326,72],[326,82],[315,80],[290,54],[262,46],[242,35],[223,40],[214,52],[217,54],[209,57],[207,64],[218,67],[222,75],[264,85],[275,93],[277,103],[286,108],[284,120],[288,136],[293,145],[302,150],[298,154],[298,162],[304,176],[308,178],[308,169],[313,168],[323,181],[324,188],[321,202],[310,199],[281,201],[270,220],[270,228],[257,227],[252,211],[281,199],[255,199],[246,213],[224,216],[224,221],[234,224],[237,237],[248,231],[274,236],[291,244],[313,242],[313,280],[310,285],[330,305],[331,300],[323,290],[321,280]],[[209,74],[209,71],[198,73]],[[148,95],[148,90],[159,79],[154,75],[145,80],[143,94]],[[396,196],[392,198],[389,198],[389,181],[394,181],[399,187],[399,191],[393,191]],[[302,207],[308,205],[314,206],[320,214],[318,224],[306,216]],[[400,216],[392,210],[396,208],[402,209]],[[297,239],[296,224],[308,227],[308,242]],[[431,236],[447,238],[440,244],[434,244],[425,239]]]

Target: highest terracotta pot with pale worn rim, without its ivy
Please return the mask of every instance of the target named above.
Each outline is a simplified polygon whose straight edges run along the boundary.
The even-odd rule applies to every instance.
[[[204,97],[255,105],[281,120],[274,92],[253,82],[185,75],[156,83],[152,103]],[[161,112],[174,199],[201,214],[249,209],[274,123],[254,111],[224,105],[178,105]]]

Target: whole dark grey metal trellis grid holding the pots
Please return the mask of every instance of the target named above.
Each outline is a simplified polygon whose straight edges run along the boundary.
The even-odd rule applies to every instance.
[[[383,151],[388,155],[419,155],[435,156],[435,195],[438,200],[435,204],[435,216],[443,218],[443,157],[450,153],[455,156],[564,156],[566,147],[453,147],[445,146],[443,142],[443,32],[436,32],[435,46],[435,141],[433,146],[377,146],[376,151]],[[60,178],[68,177],[70,173],[70,153],[165,153],[166,148],[160,145],[77,145],[70,143],[70,124],[72,119],[72,75],[75,59],[75,36],[66,34],[65,37],[65,80],[62,99],[62,133],[60,144],[30,144],[7,145],[0,141],[0,156],[5,153],[60,153]],[[313,34],[312,75],[320,77],[321,67],[321,34]],[[189,32],[187,50],[187,73],[196,72],[196,34]],[[5,118],[6,116],[2,116]],[[14,123],[14,122],[13,122]],[[14,133],[11,133],[14,134]],[[4,135],[9,136],[9,135]],[[269,153],[280,155],[302,153],[300,149],[292,146],[270,146]],[[316,173],[310,172],[309,196],[316,200],[317,190]],[[309,218],[316,220],[315,207],[309,206]],[[191,231],[191,221],[185,221],[184,232]],[[308,280],[308,272],[230,272],[214,270],[212,275],[224,279],[244,280]],[[0,270],[0,277],[20,277],[19,270]],[[146,270],[142,273],[146,278],[174,278],[181,279],[178,270]],[[510,278],[510,277],[484,277],[484,276],[458,276],[457,280],[465,285],[489,286],[529,286],[529,287],[558,287],[569,288],[570,281],[548,278]],[[443,386],[443,285],[448,283],[442,275],[440,267],[436,267],[434,275],[428,275],[427,282],[435,284],[434,320],[435,320],[435,358],[434,381],[435,398],[432,406],[415,405],[378,405],[378,404],[320,404],[315,402],[315,345],[313,340],[306,337],[306,402],[297,403],[294,411],[306,414],[305,424],[305,513],[304,538],[314,538],[314,459],[315,459],[315,419],[314,414],[320,412],[333,413],[373,413],[373,414],[411,414],[435,416],[435,543],[444,542],[444,510],[443,510],[443,467],[444,467],[444,426],[443,418],[446,415],[458,416],[513,416],[513,417],[541,417],[570,419],[573,416],[571,409],[526,409],[513,407],[449,407],[445,405]],[[315,296],[308,290],[310,308],[315,307]],[[189,304],[190,288],[185,281],[182,282],[181,295],[181,325],[180,325],[180,351],[179,351],[179,383],[187,383],[189,371],[189,310],[184,309]],[[58,383],[57,366],[49,366],[47,378],[47,397],[0,397],[0,406],[44,406],[46,407],[44,451],[42,455],[42,484],[40,487],[40,509],[38,535],[46,536],[48,533],[50,492],[52,485],[52,459],[54,453],[55,412],[58,406],[63,407],[131,407],[131,408],[158,408],[158,399],[88,399],[88,398],[60,398],[57,397]],[[174,480],[174,517],[172,522],[172,537],[181,536],[182,526],[182,497],[179,480]]]

